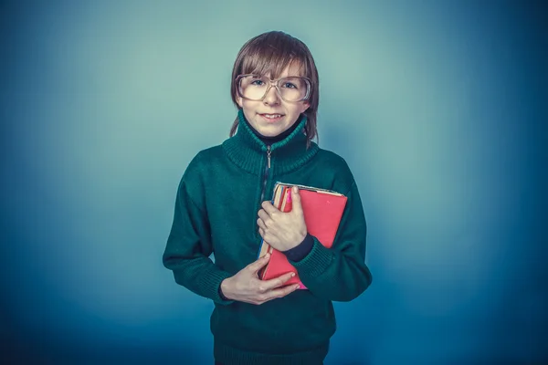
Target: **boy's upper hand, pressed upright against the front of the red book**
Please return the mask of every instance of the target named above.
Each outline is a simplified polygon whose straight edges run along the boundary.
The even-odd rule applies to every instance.
[[[258,211],[258,233],[278,251],[300,245],[307,234],[299,189],[293,187],[289,196],[293,206],[288,213],[280,212],[270,202],[263,202],[262,209]]]

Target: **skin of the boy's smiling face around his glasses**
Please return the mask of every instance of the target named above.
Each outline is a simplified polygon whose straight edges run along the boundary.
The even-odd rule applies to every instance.
[[[269,76],[269,75],[266,75]],[[279,78],[299,77],[299,65],[290,65]],[[244,111],[249,124],[265,137],[274,137],[289,130],[310,104],[307,101],[287,102],[279,97],[275,87],[262,100],[248,100],[237,96],[237,104]]]

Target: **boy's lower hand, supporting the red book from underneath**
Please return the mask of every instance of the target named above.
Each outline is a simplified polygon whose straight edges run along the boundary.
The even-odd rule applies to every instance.
[[[269,254],[264,255],[238,271],[235,276],[223,280],[221,283],[223,295],[230,300],[260,305],[277,297],[285,297],[295,291],[299,287],[298,284],[281,287],[291,277],[295,276],[293,273],[284,274],[270,280],[258,278],[258,271],[267,265],[269,258]]]

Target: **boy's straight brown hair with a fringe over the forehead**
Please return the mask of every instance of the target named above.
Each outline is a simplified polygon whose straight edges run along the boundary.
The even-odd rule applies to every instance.
[[[270,78],[279,78],[281,72],[293,62],[299,63],[300,76],[311,80],[311,95],[307,100],[310,107],[303,113],[307,117],[304,132],[307,136],[307,144],[310,146],[314,137],[318,140],[316,114],[320,102],[320,81],[311,51],[299,39],[279,31],[263,33],[249,39],[238,52],[234,62],[230,95],[237,109],[241,109],[237,104],[236,78],[238,75],[266,75],[270,73]],[[236,133],[237,125],[238,119],[236,118],[230,129],[230,137]]]

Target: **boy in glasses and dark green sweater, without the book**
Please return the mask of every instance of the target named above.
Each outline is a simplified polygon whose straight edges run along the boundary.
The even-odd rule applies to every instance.
[[[318,91],[314,60],[299,39],[282,32],[250,39],[233,69],[238,113],[230,138],[200,151],[179,184],[163,264],[178,284],[214,301],[216,363],[321,364],[335,331],[332,301],[350,301],[371,284],[353,174],[311,141]],[[277,181],[347,196],[331,249],[308,234],[298,190],[290,213],[268,202]],[[256,260],[263,238],[288,256],[306,290],[284,286],[290,274],[258,278],[269,259]]]

